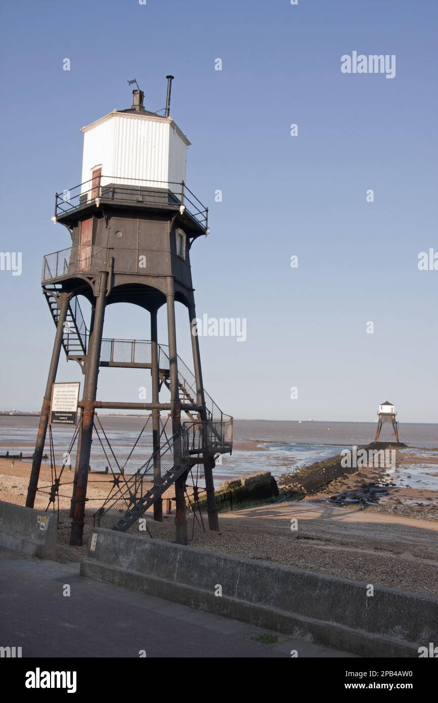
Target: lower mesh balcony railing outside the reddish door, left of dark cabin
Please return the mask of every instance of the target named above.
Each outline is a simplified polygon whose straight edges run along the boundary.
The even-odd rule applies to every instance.
[[[98,273],[107,267],[106,247],[84,245],[46,254],[43,258],[41,283],[70,276],[72,273]]]

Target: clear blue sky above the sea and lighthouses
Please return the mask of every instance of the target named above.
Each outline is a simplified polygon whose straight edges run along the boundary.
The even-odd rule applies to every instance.
[[[80,181],[81,127],[129,108],[129,79],[160,110],[172,73],[186,181],[210,207],[191,249],[198,316],[246,320],[244,342],[200,337],[212,398],[236,418],[369,421],[389,400],[401,423],[437,422],[437,29],[434,0],[4,4],[0,251],[22,272],[0,271],[0,408],[41,407],[41,263],[70,245],[51,217]],[[343,73],[354,51],[395,55],[394,77]],[[419,270],[429,250],[437,270]],[[148,329],[146,311],[108,307],[105,337]],[[102,369],[98,399],[137,401],[148,373]],[[77,363],[57,380],[82,381]]]

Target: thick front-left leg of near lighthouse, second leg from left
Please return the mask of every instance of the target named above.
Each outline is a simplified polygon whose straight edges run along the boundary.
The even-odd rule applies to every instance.
[[[94,330],[89,344],[86,360],[86,375],[84,382],[84,407],[82,409],[82,430],[79,453],[79,466],[77,470],[77,484],[75,494],[75,507],[73,510],[72,531],[70,544],[82,546],[84,534],[84,515],[86,502],[86,486],[88,483],[88,470],[91,453],[91,440],[93,438],[94,401],[96,401],[99,362],[101,360],[101,345],[103,333],[103,320],[105,317],[105,295],[108,281],[108,271],[101,273],[98,297],[96,299],[96,313],[94,316]]]

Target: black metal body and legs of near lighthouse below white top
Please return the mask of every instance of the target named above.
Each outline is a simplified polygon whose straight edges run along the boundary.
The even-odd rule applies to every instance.
[[[135,109],[133,105],[131,110]],[[65,193],[68,193],[67,198]],[[56,338],[26,505],[34,505],[49,423],[51,387],[56,380],[60,349],[64,347],[67,359],[76,359],[84,373],[83,396],[79,403],[82,425],[72,498],[70,543],[73,545],[82,544],[96,407],[136,408],[150,410],[152,414],[150,472],[153,488],[147,500],[129,493],[131,517],[134,515],[136,519],[153,504],[155,520],[161,520],[161,495],[174,483],[176,538],[179,543],[186,543],[184,485],[188,471],[198,461],[205,470],[209,526],[219,529],[212,470],[215,454],[231,453],[232,418],[221,413],[205,392],[198,337],[194,335],[191,335],[194,375],[187,378],[191,372],[177,354],[175,325],[176,302],[186,306],[191,327],[196,317],[190,250],[194,240],[207,233],[207,216],[207,208],[188,190],[184,181],[157,183],[137,177],[105,176],[97,171],[88,182],[56,195],[56,221],[68,228],[72,242],[68,249],[46,255],[43,262],[42,288],[56,323]],[[78,304],[81,295],[91,303],[88,327]],[[103,339],[105,309],[120,302],[129,302],[148,311],[150,341]],[[157,311],[163,305],[167,308],[167,350],[157,340]],[[96,402],[99,366],[149,368],[152,402]],[[162,385],[169,388],[170,403],[160,402]],[[163,450],[160,447],[161,411],[170,411],[172,417],[172,439]],[[181,421],[181,411],[191,418],[191,427]],[[200,438],[196,447],[193,441],[190,444],[190,433]],[[124,521],[126,524],[129,515]],[[115,529],[122,527],[115,526]]]

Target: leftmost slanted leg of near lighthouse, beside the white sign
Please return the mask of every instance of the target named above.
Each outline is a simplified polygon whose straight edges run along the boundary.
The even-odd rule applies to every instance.
[[[59,296],[59,317],[56,325],[55,341],[53,342],[53,352],[47,377],[46,393],[44,394],[43,404],[41,407],[41,415],[39,416],[39,426],[37,441],[35,443],[34,458],[32,460],[32,469],[30,471],[29,487],[27,489],[26,507],[33,508],[35,503],[35,495],[38,489],[39,471],[41,469],[41,459],[46,442],[47,426],[49,425],[50,401],[52,386],[56,380],[56,372],[58,370],[59,356],[63,344],[64,323],[67,317],[68,302],[70,295],[66,292],[61,292]]]

